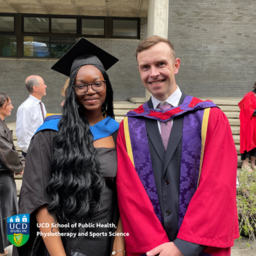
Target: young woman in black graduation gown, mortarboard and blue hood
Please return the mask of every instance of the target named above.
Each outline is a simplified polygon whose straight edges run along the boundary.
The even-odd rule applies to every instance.
[[[70,82],[63,115],[46,118],[30,142],[19,211],[30,214],[30,238],[14,255],[109,256],[124,249],[123,237],[113,242],[109,235],[122,229],[115,184],[119,126],[106,73],[117,61],[82,38],[53,66],[70,74]]]

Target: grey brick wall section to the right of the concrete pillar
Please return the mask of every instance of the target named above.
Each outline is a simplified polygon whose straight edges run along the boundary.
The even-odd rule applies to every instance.
[[[242,97],[256,81],[256,2],[169,1],[168,39],[181,67],[176,83],[203,97]]]

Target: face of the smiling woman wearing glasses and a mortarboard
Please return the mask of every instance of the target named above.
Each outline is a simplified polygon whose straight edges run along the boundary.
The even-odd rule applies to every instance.
[[[104,77],[100,70],[92,65],[82,66],[77,72],[75,77],[75,84],[92,84],[93,82],[104,81]],[[95,92],[91,86],[88,86],[88,91],[84,95],[79,95],[77,93],[77,100],[88,111],[101,112],[102,104],[106,98],[106,85],[103,91]]]

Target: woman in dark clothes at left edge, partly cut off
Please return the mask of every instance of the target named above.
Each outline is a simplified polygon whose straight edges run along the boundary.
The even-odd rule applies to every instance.
[[[0,93],[0,256],[10,246],[7,237],[7,218],[17,214],[17,189],[14,174],[22,174],[25,158],[17,152],[10,131],[4,122],[12,111],[12,102],[6,93]]]

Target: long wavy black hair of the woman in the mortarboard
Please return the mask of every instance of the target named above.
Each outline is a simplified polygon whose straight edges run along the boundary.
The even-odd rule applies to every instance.
[[[96,66],[96,65],[95,65]],[[73,84],[81,66],[71,73],[59,132],[53,140],[51,162],[52,179],[46,192],[50,203],[48,212],[57,217],[62,232],[80,232],[75,223],[86,223],[100,208],[100,193],[104,179],[100,175],[98,154],[93,147],[93,135],[89,122],[84,117],[84,107],[77,101]],[[106,80],[107,95],[102,112],[114,118],[113,90],[109,77],[100,66],[96,66]],[[63,238],[63,237],[62,237]],[[64,241],[65,241],[64,237]]]

